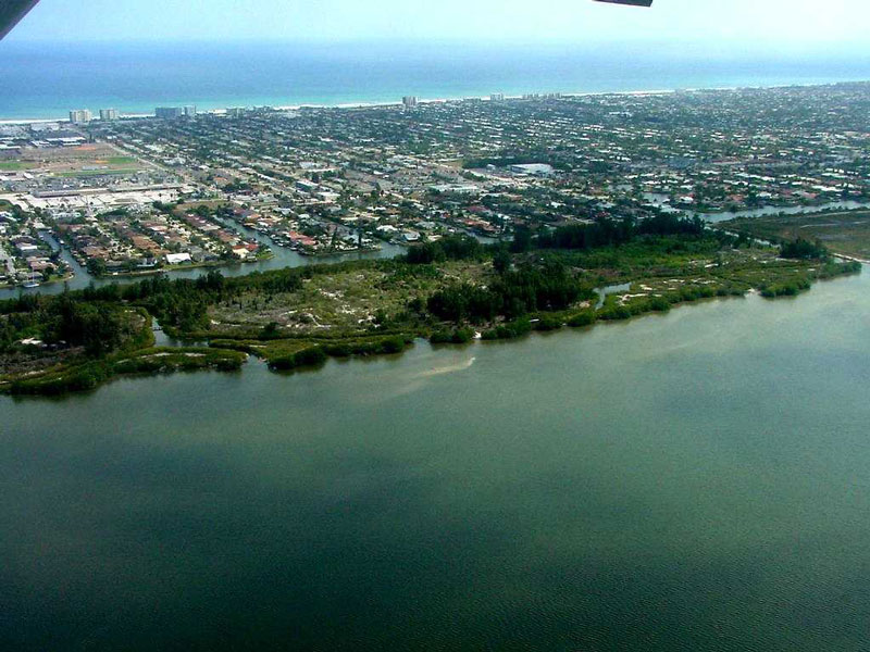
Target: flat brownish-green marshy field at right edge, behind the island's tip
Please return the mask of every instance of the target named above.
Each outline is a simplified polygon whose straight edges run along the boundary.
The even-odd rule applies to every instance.
[[[833,253],[870,261],[870,211],[739,218],[721,226],[770,241],[819,240]]]

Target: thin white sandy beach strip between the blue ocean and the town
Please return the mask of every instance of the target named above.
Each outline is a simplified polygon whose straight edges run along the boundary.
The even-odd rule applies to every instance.
[[[773,84],[773,85],[748,85],[748,86],[699,86],[699,87],[686,87],[686,88],[662,88],[662,89],[634,89],[634,90],[579,90],[579,91],[535,91],[530,90],[525,93],[520,95],[508,95],[505,93],[504,101],[508,100],[522,100],[525,95],[538,95],[538,96],[547,96],[547,95],[559,95],[563,98],[588,98],[588,97],[608,97],[608,96],[623,96],[623,97],[645,97],[645,96],[661,96],[661,95],[672,95],[678,92],[700,92],[700,91],[711,91],[711,92],[729,92],[729,91],[736,91],[736,90],[773,90],[773,89],[782,89],[782,88],[822,88],[825,86],[835,86],[838,84],[867,84],[870,83],[870,78],[862,79],[862,80],[841,80],[841,82],[831,82],[828,84]],[[444,98],[418,98],[418,104],[444,104],[446,102],[459,102],[463,100],[480,100],[484,102],[494,101],[490,99],[489,96],[455,96],[455,97],[444,97]],[[156,102],[158,102],[156,100]],[[159,103],[159,102],[158,102]],[[197,104],[195,101],[189,103]],[[172,102],[169,102],[172,104]],[[198,111],[200,115],[225,115],[227,108],[231,106],[239,106],[239,108],[249,108],[249,106],[257,106],[258,104],[240,104],[234,102],[226,102],[224,108],[214,108],[214,109],[202,109]],[[330,102],[330,103],[316,103],[316,102],[301,102],[301,103],[294,103],[294,104],[277,104],[272,106],[275,111],[299,111],[301,109],[316,109],[316,110],[326,110],[326,109],[339,109],[339,110],[359,110],[359,109],[378,109],[385,106],[401,106],[401,100],[396,101],[358,101],[358,102]],[[132,111],[129,113],[125,113],[123,110],[119,109],[120,120],[144,120],[149,117],[154,117],[153,113],[141,113],[140,111]],[[49,124],[49,123],[67,123],[69,116],[59,116],[59,117],[4,117],[0,116],[0,126],[14,126],[14,125],[29,125],[29,124]],[[95,122],[99,122],[96,120]]]

